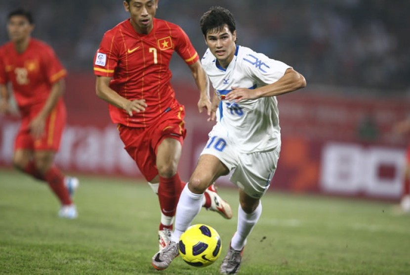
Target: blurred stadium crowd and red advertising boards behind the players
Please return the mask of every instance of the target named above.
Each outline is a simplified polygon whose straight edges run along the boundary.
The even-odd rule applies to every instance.
[[[232,11],[240,45],[307,79],[307,88],[278,99],[282,152],[274,188],[400,198],[410,134],[393,126],[410,114],[410,0],[159,0],[157,17],[180,25],[202,55],[199,22],[213,5]],[[17,7],[33,12],[33,36],[50,44],[69,71],[68,124],[56,163],[64,171],[142,177],[107,103],[95,95],[92,70],[104,32],[128,18],[123,1],[0,0],[0,44],[8,41],[7,14]],[[186,106],[178,169],[188,179],[212,124],[198,113],[198,92],[181,58],[172,58],[171,70],[176,98]],[[0,167],[11,167],[18,126],[0,116]]]

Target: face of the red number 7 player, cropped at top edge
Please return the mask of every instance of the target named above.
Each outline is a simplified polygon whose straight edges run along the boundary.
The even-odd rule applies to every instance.
[[[131,15],[131,25],[138,33],[148,34],[153,28],[153,20],[158,8],[158,0],[124,1],[125,10]]]

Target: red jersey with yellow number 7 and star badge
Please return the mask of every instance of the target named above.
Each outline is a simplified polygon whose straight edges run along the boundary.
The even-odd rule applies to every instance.
[[[125,110],[109,105],[114,123],[146,127],[169,109],[179,107],[170,85],[169,61],[176,51],[190,65],[198,53],[185,32],[175,24],[154,18],[153,30],[137,33],[129,19],[107,31],[94,56],[94,74],[113,77],[110,88],[129,99],[145,99],[144,112],[130,117]]]

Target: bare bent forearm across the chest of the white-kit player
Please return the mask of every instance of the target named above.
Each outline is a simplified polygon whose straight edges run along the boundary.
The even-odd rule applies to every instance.
[[[261,97],[276,96],[304,87],[306,87],[305,78],[293,69],[288,69],[285,75],[277,82],[258,88],[256,92],[258,92]]]

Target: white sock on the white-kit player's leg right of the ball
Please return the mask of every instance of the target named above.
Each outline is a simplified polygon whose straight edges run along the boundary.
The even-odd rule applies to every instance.
[[[238,207],[238,227],[231,240],[231,247],[234,250],[242,250],[246,245],[246,238],[259,220],[262,213],[262,202],[259,201],[258,207],[251,214],[246,214],[241,205]]]

